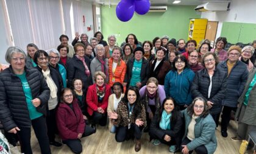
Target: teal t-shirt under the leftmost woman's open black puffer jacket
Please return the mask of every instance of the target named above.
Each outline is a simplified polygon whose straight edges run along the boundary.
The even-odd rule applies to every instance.
[[[29,83],[27,82],[27,79],[26,79],[26,72],[24,72],[21,75],[19,75],[19,74],[16,74],[16,75],[21,79],[23,91],[24,91],[24,94],[26,97],[27,109],[29,110],[30,119],[33,120],[33,119],[36,119],[37,117],[43,116],[42,113],[40,113],[36,110],[36,108],[34,107],[34,105],[31,102],[31,100],[33,98],[32,98],[31,89],[29,87]]]

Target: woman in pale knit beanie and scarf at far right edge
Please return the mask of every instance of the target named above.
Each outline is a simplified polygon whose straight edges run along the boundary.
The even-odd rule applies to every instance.
[[[254,64],[250,60],[253,54],[254,54],[254,47],[245,46],[242,49],[241,57],[239,57],[239,60],[243,61],[247,65],[248,71],[251,71],[254,68]]]

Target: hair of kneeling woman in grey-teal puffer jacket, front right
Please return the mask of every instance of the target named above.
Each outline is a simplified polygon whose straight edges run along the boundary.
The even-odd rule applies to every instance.
[[[196,97],[193,100],[193,102],[190,104],[190,106],[188,106],[188,108],[187,108],[188,116],[192,117],[192,115],[194,114],[194,103],[196,103],[197,100],[201,100],[202,102],[204,102],[204,111],[202,112],[202,114],[200,116],[206,117],[210,113],[210,111],[209,111],[208,105],[206,103],[206,100],[203,99],[202,97]]]

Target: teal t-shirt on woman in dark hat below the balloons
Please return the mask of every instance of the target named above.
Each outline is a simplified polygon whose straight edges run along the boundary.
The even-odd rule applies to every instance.
[[[134,60],[132,67],[132,79],[130,79],[129,86],[136,86],[137,82],[141,82],[140,71],[142,66],[142,59],[140,61]]]

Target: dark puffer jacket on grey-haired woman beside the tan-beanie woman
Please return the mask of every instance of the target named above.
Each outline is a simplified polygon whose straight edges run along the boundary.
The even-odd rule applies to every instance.
[[[212,77],[212,90],[210,98],[208,98],[208,88],[210,86],[210,76],[207,69],[202,69],[196,72],[191,86],[191,94],[193,98],[202,97],[203,99],[213,102],[213,107],[210,109],[211,114],[217,114],[222,109],[222,99],[224,99],[227,89],[226,73],[221,72],[218,68],[215,69]]]

